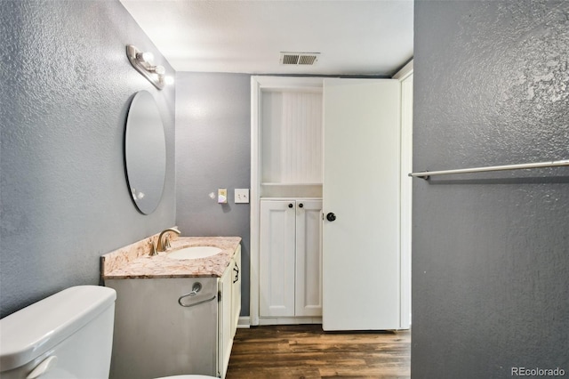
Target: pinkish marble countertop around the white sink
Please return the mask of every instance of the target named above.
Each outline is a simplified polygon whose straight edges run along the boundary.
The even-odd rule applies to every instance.
[[[240,237],[174,237],[164,253],[148,255],[156,236],[101,256],[103,279],[126,278],[204,278],[221,277],[228,267]],[[207,258],[177,260],[168,258],[173,251],[189,246],[215,246],[219,254]]]

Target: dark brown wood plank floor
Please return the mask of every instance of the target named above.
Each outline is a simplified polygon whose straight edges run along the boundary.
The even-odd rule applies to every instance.
[[[237,329],[227,379],[409,378],[411,333],[324,332],[320,325]]]

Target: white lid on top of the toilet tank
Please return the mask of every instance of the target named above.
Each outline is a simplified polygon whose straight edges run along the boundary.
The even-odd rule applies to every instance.
[[[73,335],[116,300],[105,286],[72,286],[0,319],[0,370],[36,359]]]

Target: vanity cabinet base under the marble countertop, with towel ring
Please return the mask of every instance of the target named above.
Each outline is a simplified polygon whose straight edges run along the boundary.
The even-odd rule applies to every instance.
[[[225,377],[241,310],[240,269],[237,245],[220,277],[104,278],[116,290],[110,378]]]

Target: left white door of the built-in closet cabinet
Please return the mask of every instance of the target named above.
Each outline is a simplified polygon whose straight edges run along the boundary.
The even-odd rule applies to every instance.
[[[260,202],[260,316],[294,316],[295,204]]]

